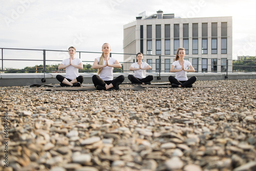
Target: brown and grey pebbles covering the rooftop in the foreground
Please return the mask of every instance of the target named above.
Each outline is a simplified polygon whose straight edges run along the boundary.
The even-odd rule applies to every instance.
[[[5,170],[255,170],[256,80],[195,84],[213,88],[0,87]]]

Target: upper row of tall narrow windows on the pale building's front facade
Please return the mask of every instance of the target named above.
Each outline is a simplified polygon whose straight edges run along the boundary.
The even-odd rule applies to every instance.
[[[192,41],[192,54],[198,54],[198,23],[193,23],[193,41]],[[164,54],[170,55],[170,25],[164,25]],[[211,54],[217,54],[217,23],[211,23]],[[227,23],[221,23],[221,53],[227,53]],[[174,54],[180,47],[180,29],[179,24],[174,24]],[[152,25],[146,26],[146,54],[152,55]],[[186,50],[186,54],[189,54],[188,48],[188,24],[183,24],[183,48]],[[202,54],[208,54],[208,24],[202,23]],[[140,51],[143,52],[143,25],[140,26]],[[161,55],[161,25],[156,25],[156,55]]]

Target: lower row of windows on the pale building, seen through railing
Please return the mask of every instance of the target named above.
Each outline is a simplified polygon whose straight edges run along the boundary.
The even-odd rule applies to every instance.
[[[184,59],[188,60],[188,59]],[[202,58],[202,72],[208,71],[208,66],[211,67],[211,72],[217,72],[217,59],[210,59],[211,65],[208,65],[208,59]],[[147,59],[146,62],[151,67],[153,66],[152,59]],[[170,63],[170,59],[164,59],[164,72],[170,72],[170,66],[172,63]],[[198,72],[198,58],[192,59],[192,66]],[[147,72],[152,72],[153,70],[147,70]],[[159,71],[159,59],[156,59],[156,72]],[[227,71],[227,59],[221,59],[221,72]]]

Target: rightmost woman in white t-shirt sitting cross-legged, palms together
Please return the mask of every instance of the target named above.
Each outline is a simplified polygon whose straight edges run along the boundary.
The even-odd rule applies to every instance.
[[[170,72],[176,72],[176,76],[169,76],[169,81],[172,83],[173,88],[186,87],[191,88],[192,84],[196,82],[197,77],[193,76],[187,79],[186,72],[195,72],[195,69],[191,63],[187,60],[184,60],[185,49],[178,48],[175,61],[170,68]],[[187,69],[189,68],[189,69]]]

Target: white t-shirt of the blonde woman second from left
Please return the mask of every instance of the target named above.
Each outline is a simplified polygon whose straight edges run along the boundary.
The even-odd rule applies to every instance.
[[[99,63],[99,58],[100,57],[97,57],[96,59],[98,60],[98,63]],[[113,57],[110,57],[110,59],[109,59],[109,64],[110,65],[113,65],[113,64],[115,64],[115,61],[116,61],[116,59],[115,58],[113,58]],[[104,62],[103,62],[103,65],[105,64],[105,60],[104,60]],[[111,81],[111,80],[113,80],[113,70],[114,70],[114,68],[113,67],[109,67],[109,66],[106,66],[106,67],[104,67],[104,68],[102,68],[102,70],[101,70],[101,72],[100,72],[100,74],[99,74],[99,77],[101,78],[101,79],[103,79],[103,81]]]

